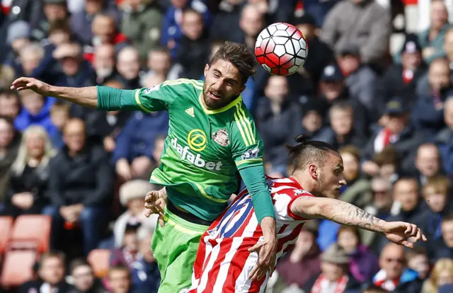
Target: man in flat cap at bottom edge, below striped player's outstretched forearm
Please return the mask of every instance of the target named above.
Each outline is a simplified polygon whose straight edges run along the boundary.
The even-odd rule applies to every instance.
[[[345,250],[337,243],[332,244],[321,254],[321,275],[309,282],[306,292],[343,293],[360,289],[360,282],[350,275],[349,261]]]

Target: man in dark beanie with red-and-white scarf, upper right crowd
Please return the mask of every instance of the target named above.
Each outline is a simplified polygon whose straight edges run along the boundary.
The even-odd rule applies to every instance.
[[[425,73],[426,64],[421,57],[417,36],[406,35],[401,62],[395,62],[382,76],[377,84],[377,98],[386,102],[391,97],[401,96],[404,103],[412,103],[417,83]]]

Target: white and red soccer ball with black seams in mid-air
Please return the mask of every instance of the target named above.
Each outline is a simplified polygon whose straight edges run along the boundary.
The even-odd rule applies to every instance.
[[[258,63],[275,75],[290,75],[305,63],[309,45],[304,35],[289,23],[274,23],[256,39],[255,56]]]

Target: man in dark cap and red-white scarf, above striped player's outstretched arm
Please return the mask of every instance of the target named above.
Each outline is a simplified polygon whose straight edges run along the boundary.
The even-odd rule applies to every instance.
[[[386,103],[384,115],[379,121],[382,123],[382,128],[375,131],[363,149],[363,155],[367,161],[362,163],[362,170],[375,175],[379,167],[369,160],[386,146],[393,146],[398,157],[404,158],[401,162],[402,171],[410,172],[413,169],[417,148],[425,138],[422,134],[415,132],[409,121],[408,109],[401,98],[392,98]]]

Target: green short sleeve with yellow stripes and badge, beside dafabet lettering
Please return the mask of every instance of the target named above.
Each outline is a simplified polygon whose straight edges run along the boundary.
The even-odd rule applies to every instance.
[[[236,105],[231,125],[231,154],[238,170],[263,165],[263,140],[248,110]]]

